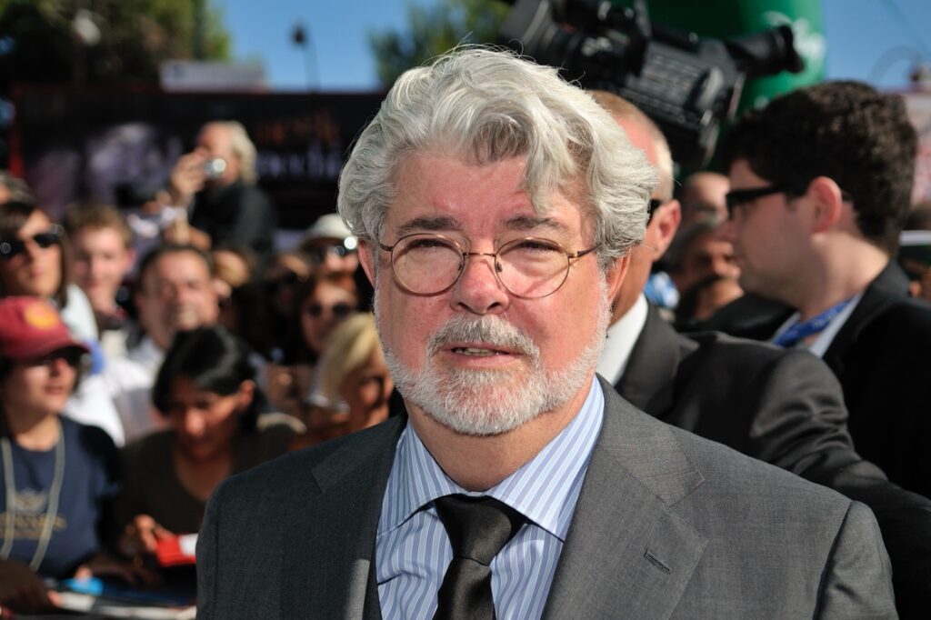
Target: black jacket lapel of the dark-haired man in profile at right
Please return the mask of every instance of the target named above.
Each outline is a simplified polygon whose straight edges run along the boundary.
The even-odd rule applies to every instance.
[[[909,296],[909,279],[895,261],[886,264],[870,286],[863,291],[857,307],[844,321],[822,359],[836,376],[843,373],[843,357],[870,322],[881,315],[891,303]]]

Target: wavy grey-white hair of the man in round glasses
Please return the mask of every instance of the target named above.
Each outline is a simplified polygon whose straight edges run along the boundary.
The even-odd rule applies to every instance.
[[[646,158],[584,90],[510,50],[458,47],[398,77],[340,173],[337,206],[354,235],[381,240],[399,164],[428,151],[477,164],[526,157],[538,212],[584,182],[602,267],[643,238],[655,185]]]

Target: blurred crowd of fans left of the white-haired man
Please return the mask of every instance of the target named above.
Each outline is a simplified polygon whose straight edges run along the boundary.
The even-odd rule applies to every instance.
[[[177,206],[146,212],[56,218],[0,179],[0,608],[45,611],[45,580],[94,573],[193,591],[157,550],[198,532],[223,479],[387,418],[355,237],[330,214],[273,253],[254,156],[239,124],[208,124]]]

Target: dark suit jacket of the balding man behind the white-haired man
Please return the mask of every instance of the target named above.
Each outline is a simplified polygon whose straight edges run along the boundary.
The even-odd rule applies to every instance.
[[[869,505],[892,559],[899,613],[931,617],[931,501],[854,452],[841,387],[821,360],[720,332],[686,337],[651,305],[615,387],[670,425]]]

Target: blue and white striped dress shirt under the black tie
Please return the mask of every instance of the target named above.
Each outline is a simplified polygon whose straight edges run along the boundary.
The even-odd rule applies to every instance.
[[[539,618],[603,416],[604,394],[592,381],[573,421],[532,461],[486,492],[466,492],[453,482],[408,425],[398,439],[375,542],[383,617],[433,617],[452,561],[433,500],[466,493],[491,495],[528,519],[492,560],[492,596],[499,620]]]

